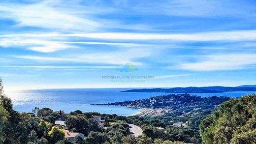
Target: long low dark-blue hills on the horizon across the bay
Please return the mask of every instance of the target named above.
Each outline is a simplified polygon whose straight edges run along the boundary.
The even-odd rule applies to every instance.
[[[228,91],[256,91],[256,87],[227,87],[227,86],[204,86],[204,87],[173,87],[173,88],[144,88],[130,89],[122,92],[166,92],[166,93],[216,93]]]

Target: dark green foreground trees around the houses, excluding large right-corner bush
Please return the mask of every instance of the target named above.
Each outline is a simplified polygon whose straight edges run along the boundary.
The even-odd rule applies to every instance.
[[[79,110],[65,114],[49,108],[35,108],[32,112],[15,111],[11,100],[3,93],[0,80],[0,144],[68,144],[64,129],[85,134],[85,139],[77,137],[74,144],[181,144],[172,142],[169,132],[165,133],[153,126],[157,124],[165,127],[158,120],[148,121],[138,116],[125,117],[96,112],[82,113]],[[104,128],[98,126],[92,115],[104,117]],[[66,127],[54,126],[58,118],[65,118]],[[128,122],[139,123],[143,126],[144,134],[138,138],[129,135]],[[154,136],[149,133],[152,129],[156,134]]]

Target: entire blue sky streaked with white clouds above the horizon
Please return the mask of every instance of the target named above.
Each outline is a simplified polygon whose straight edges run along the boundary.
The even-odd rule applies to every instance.
[[[6,90],[256,85],[256,1],[1,0],[0,77]]]

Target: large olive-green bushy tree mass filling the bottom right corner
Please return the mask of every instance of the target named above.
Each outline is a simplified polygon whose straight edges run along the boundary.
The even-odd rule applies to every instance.
[[[199,128],[205,144],[256,144],[256,94],[224,102]]]

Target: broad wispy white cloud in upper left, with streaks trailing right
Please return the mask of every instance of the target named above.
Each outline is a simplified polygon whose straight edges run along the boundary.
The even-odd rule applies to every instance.
[[[143,24],[124,24],[119,20],[99,18],[119,11],[105,5],[90,5],[91,1],[45,0],[38,3],[20,4],[0,2],[0,18],[16,22],[15,27],[36,27],[67,33],[96,31],[99,29],[153,30]]]

